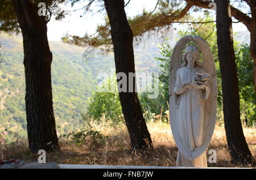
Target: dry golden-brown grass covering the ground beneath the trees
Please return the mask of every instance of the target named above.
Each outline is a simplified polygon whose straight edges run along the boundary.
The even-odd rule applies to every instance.
[[[86,165],[175,166],[177,147],[171,135],[170,124],[150,122],[147,123],[147,126],[154,144],[154,151],[151,153],[130,151],[129,134],[126,127],[123,125],[111,127],[105,124],[94,126],[94,130],[101,131],[102,134],[109,136],[106,139],[106,144],[102,147],[79,146],[72,143],[71,140],[60,138],[61,150],[47,153],[47,162]],[[243,132],[250,151],[256,158],[256,129],[244,127]],[[3,159],[15,158],[27,162],[37,161],[38,155],[33,155],[28,151],[27,142],[24,140],[10,144],[8,149],[4,148],[0,157],[2,156]],[[222,123],[217,123],[208,149],[217,151],[217,163],[208,163],[208,166],[235,167],[230,162]]]

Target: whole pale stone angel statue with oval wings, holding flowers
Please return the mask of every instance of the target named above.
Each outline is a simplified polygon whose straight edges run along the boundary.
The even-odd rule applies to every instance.
[[[185,45],[196,42],[199,48]],[[183,53],[183,49],[185,52]],[[170,65],[170,121],[178,147],[176,166],[207,167],[206,149],[217,112],[217,79],[213,56],[200,36],[184,36],[175,45]]]

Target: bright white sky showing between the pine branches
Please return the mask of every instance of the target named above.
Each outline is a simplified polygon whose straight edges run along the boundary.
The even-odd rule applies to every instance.
[[[125,0],[127,2],[127,0]],[[127,17],[133,17],[141,14],[143,8],[152,11],[155,8],[156,0],[131,0],[129,6],[126,7]],[[76,10],[81,8],[82,5],[77,4],[75,7],[64,7],[65,10]],[[99,8],[93,6],[94,11]],[[213,16],[214,16],[214,11]],[[82,15],[82,17],[80,17]],[[47,24],[48,27],[48,40],[60,41],[65,33],[70,35],[83,36],[85,33],[91,35],[96,32],[98,24],[104,23],[105,12],[101,14],[83,14],[83,11],[72,12],[72,15],[65,16],[61,21],[56,21],[54,18]],[[237,20],[234,20],[237,21]],[[179,29],[179,24],[175,23],[175,28]],[[247,31],[247,28],[242,23],[233,23],[233,31]]]

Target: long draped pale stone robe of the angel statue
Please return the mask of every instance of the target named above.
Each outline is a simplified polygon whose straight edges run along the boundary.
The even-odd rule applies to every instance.
[[[191,82],[193,76],[199,72],[206,73],[203,67],[196,66],[189,69],[181,67],[177,70],[175,84],[175,104],[178,108],[177,128],[179,138],[187,151],[193,151],[203,143],[203,127],[205,118],[205,100],[210,88],[205,84],[205,89],[185,88],[185,83]],[[188,160],[180,151],[177,154],[176,166],[207,167],[206,151],[199,157]]]

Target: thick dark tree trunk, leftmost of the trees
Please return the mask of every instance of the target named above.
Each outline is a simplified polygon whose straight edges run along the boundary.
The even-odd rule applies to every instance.
[[[52,106],[52,53],[44,17],[27,0],[13,0],[23,36],[28,143],[32,152],[59,149]]]

